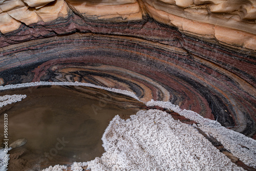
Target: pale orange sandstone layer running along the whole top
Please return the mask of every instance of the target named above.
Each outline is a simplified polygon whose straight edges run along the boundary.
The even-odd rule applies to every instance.
[[[6,34],[15,30],[20,31],[23,25],[33,27],[33,24],[37,23],[44,26],[48,22],[73,14],[86,20],[115,23],[141,20],[143,15],[149,14],[158,22],[177,27],[189,36],[237,50],[254,51],[256,50],[255,7],[256,3],[252,0],[93,2],[9,0],[0,4],[0,32],[4,34],[2,35],[3,47],[8,42],[5,40],[5,38],[8,39]],[[80,30],[77,26],[75,28]],[[66,33],[69,31],[67,30]],[[21,39],[14,40],[20,41]]]

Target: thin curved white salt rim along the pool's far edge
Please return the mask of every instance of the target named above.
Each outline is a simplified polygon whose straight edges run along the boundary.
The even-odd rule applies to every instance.
[[[120,93],[120,94],[124,94],[127,96],[131,96],[137,100],[139,100],[139,98],[130,91],[127,90],[119,90],[119,89],[114,89],[114,88],[105,88],[102,86],[96,86],[94,84],[91,83],[84,83],[84,82],[47,82],[47,81],[39,81],[39,82],[28,82],[28,83],[21,83],[21,84],[11,84],[11,85],[7,85],[7,86],[0,86],[0,91],[1,90],[8,90],[8,89],[17,89],[17,88],[24,88],[24,87],[34,87],[34,86],[86,86],[86,87],[93,87],[93,88],[97,88],[97,89],[103,89],[103,90],[107,90],[107,91],[111,91],[111,92],[115,92],[115,93]],[[140,101],[140,100],[139,100]]]

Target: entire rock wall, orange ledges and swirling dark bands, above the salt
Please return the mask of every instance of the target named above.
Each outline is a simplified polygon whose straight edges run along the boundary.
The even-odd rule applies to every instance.
[[[0,86],[83,82],[256,139],[256,1],[0,1]]]

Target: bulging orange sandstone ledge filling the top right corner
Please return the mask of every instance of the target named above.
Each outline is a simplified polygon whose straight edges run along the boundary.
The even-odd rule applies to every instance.
[[[187,35],[255,50],[255,1],[142,1],[154,19]]]

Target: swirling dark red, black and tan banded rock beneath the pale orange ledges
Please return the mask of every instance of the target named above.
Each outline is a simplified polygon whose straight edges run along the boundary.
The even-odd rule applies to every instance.
[[[154,26],[172,39],[160,40],[163,44],[143,35],[75,33],[5,47],[0,61],[3,85],[79,81],[129,90],[144,102],[171,101],[247,136],[255,135],[254,58],[182,37],[154,23],[145,23],[137,32],[152,32]]]

